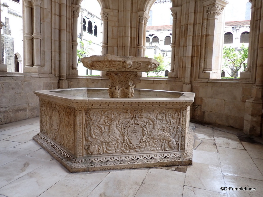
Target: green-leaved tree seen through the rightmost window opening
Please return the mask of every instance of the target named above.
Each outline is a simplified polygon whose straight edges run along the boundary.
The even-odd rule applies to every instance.
[[[236,77],[239,75],[238,71],[242,68],[246,68],[245,60],[247,59],[248,47],[244,47],[244,44],[240,47],[240,50],[235,50],[235,48],[224,47],[223,49],[223,63],[225,68],[230,68],[230,73],[225,70],[231,77]]]

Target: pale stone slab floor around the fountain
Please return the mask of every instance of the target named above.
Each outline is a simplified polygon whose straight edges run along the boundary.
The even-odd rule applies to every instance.
[[[190,125],[192,166],[91,173],[69,173],[32,140],[39,118],[0,125],[0,196],[263,196],[262,138],[220,125]]]

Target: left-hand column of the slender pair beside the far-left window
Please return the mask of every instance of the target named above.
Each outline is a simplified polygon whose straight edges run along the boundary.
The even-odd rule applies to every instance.
[[[31,1],[25,0],[24,1],[24,7],[25,7],[25,48],[27,53],[24,54],[26,55],[25,60],[25,66],[26,67],[32,67],[33,66],[33,56],[32,56],[32,41],[33,41],[33,36],[32,36],[32,7],[31,7]]]

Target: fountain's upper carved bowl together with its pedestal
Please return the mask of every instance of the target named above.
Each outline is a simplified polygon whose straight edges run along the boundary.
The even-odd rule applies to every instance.
[[[146,57],[129,57],[115,55],[93,55],[81,59],[83,66],[91,70],[106,71],[111,85],[109,85],[110,98],[132,98],[133,79],[137,72],[153,71],[159,62]]]

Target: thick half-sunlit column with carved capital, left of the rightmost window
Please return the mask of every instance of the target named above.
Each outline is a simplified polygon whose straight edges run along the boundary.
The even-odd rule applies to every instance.
[[[206,15],[205,23],[205,46],[204,46],[204,64],[200,78],[220,78],[224,16],[221,12],[227,5],[225,0],[203,0],[204,11]]]

